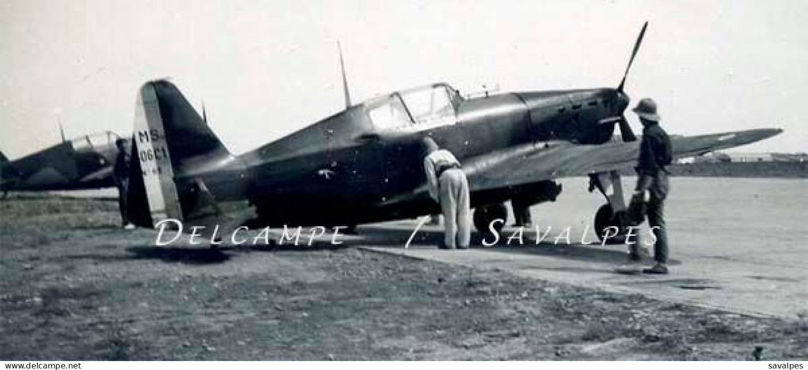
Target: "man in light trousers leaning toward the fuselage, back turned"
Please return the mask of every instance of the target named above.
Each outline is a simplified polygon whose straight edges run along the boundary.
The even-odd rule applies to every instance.
[[[457,158],[440,149],[431,137],[423,139],[427,157],[423,168],[427,173],[429,196],[440,204],[444,214],[444,244],[441,249],[467,249],[471,237],[469,182]]]

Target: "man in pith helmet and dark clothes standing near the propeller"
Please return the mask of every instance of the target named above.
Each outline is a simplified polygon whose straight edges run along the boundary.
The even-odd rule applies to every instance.
[[[643,126],[640,154],[637,159],[638,179],[634,197],[648,200],[646,217],[648,217],[651,232],[656,238],[656,242],[654,242],[656,263],[654,267],[642,271],[646,274],[667,274],[667,232],[663,209],[669,190],[668,173],[665,166],[671,164],[673,158],[671,141],[665,130],[659,126],[659,114],[657,114],[657,105],[653,99],[640,100],[633,111]],[[629,245],[629,260],[639,261],[641,259],[638,251],[640,242],[637,240],[635,244]]]

